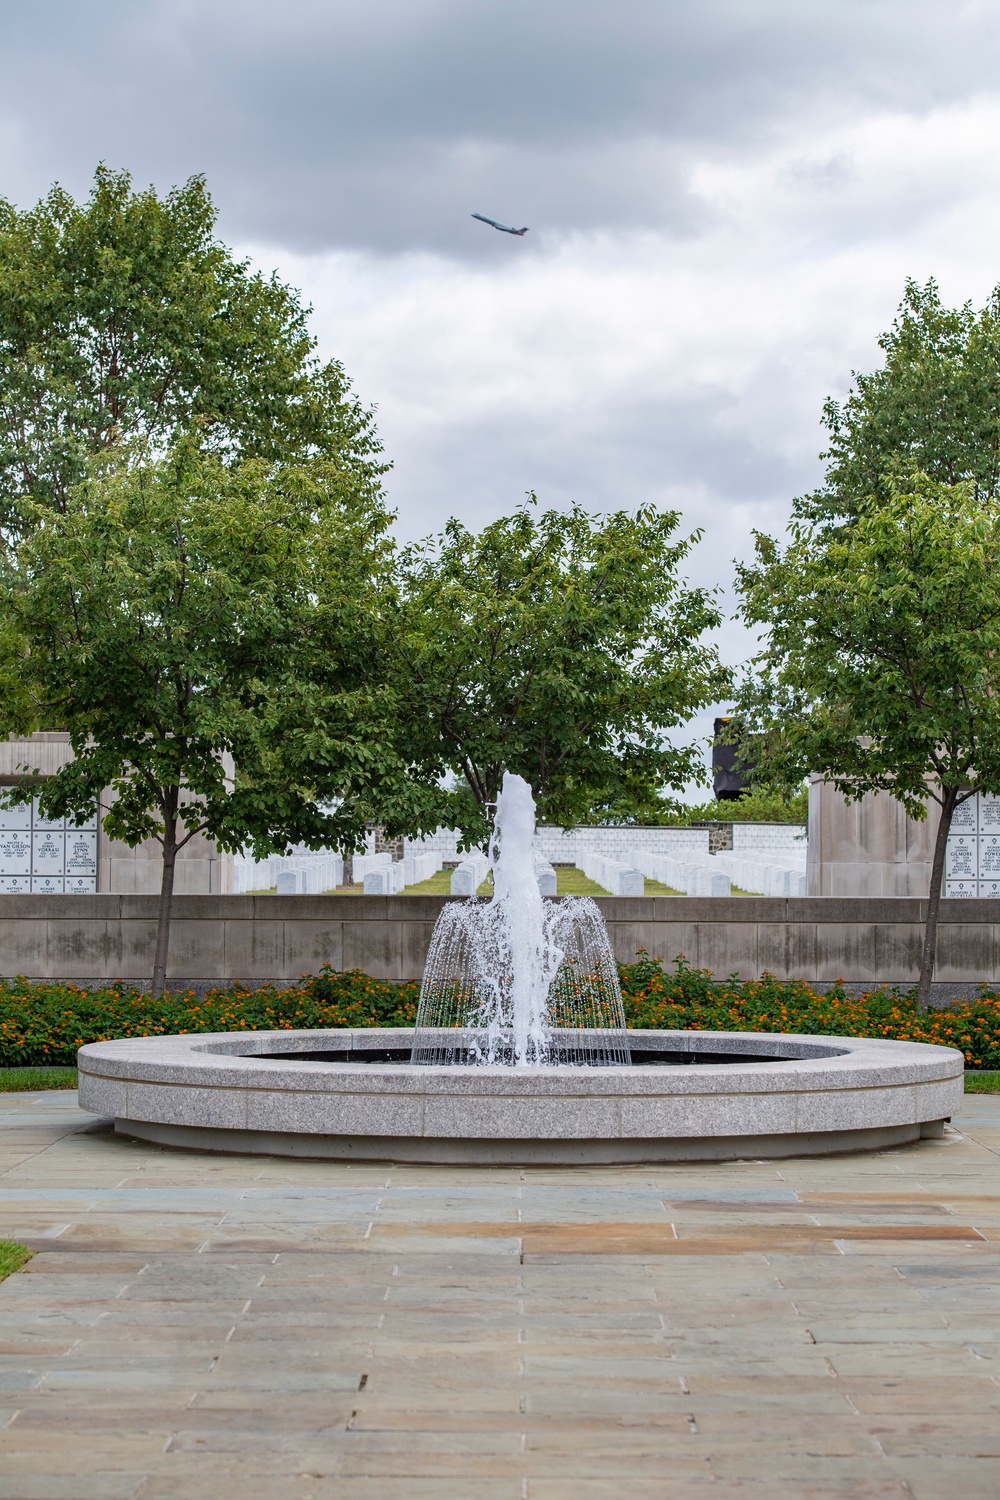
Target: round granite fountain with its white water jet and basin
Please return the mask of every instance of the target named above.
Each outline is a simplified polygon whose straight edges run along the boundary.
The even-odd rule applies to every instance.
[[[81,1106],[172,1146],[430,1162],[789,1156],[943,1132],[964,1086],[949,1047],[627,1030],[600,908],[541,896],[534,831],[531,788],[507,774],[493,896],[442,906],[415,1028],[93,1042]]]

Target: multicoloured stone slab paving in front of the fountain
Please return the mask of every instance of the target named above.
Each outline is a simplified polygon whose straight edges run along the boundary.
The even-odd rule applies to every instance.
[[[996,1500],[1000,1096],[882,1155],[213,1156],[0,1095],[4,1500]]]

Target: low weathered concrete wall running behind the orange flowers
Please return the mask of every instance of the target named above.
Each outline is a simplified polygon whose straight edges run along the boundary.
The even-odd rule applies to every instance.
[[[195,986],[291,982],[321,964],[418,978],[439,896],[181,896],[169,975]],[[0,974],[82,984],[148,982],[156,900],[147,896],[0,898]],[[834,897],[606,897],[621,960],[684,954],[720,976],[906,982],[918,975],[925,902]],[[936,980],[1000,982],[1000,902],[943,902]]]

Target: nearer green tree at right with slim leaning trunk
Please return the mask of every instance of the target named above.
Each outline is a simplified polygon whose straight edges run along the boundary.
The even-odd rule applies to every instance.
[[[766,645],[738,699],[760,772],[819,771],[850,801],[889,792],[940,816],[921,958],[931,993],[948,834],[976,790],[1000,792],[1000,510],[972,483],[918,476],[849,526],[798,520],[738,568]]]

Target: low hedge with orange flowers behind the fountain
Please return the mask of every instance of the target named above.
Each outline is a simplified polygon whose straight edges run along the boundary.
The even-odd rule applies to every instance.
[[[972,1070],[1000,1068],[1000,993],[918,1011],[913,990],[819,993],[805,980],[717,980],[678,958],[667,970],[640,952],[619,964],[625,1020],[651,1030],[814,1032],[892,1036],[957,1047]],[[420,986],[390,984],[360,969],[322,969],[291,990],[232,986],[204,996],[144,994],[123,984],[0,981],[0,1068],[72,1065],[76,1048],[115,1036],[330,1026],[412,1026]]]

